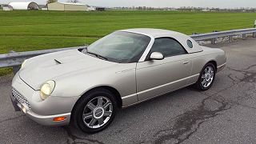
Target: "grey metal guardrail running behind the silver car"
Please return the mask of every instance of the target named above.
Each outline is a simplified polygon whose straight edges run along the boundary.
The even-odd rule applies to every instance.
[[[229,41],[232,41],[233,36],[242,35],[242,38],[246,38],[246,34],[253,34],[253,37],[256,37],[256,28],[251,29],[242,29],[242,30],[228,30],[221,32],[213,32],[206,34],[194,34],[190,35],[191,38],[194,38],[195,41],[205,41],[211,40],[212,44],[216,43],[217,38],[229,37]],[[0,68],[4,67],[13,67],[14,73],[18,71],[19,66],[27,58],[32,58],[40,54],[48,54],[52,52],[62,51],[62,50],[71,50],[85,48],[86,46],[78,47],[68,47],[61,49],[52,49],[52,50],[37,50],[37,51],[27,51],[27,52],[10,52],[10,54],[0,54]]]

